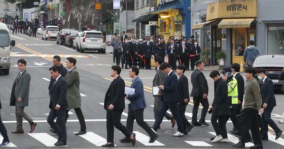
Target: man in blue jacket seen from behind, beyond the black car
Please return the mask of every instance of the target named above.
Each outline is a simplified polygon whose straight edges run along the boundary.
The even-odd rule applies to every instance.
[[[248,67],[252,66],[257,56],[260,55],[259,49],[255,46],[255,41],[250,41],[250,46],[244,50],[243,61],[247,63]]]

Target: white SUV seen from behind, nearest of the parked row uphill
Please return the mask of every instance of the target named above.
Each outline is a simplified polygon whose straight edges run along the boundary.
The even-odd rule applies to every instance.
[[[97,30],[84,31],[79,38],[78,46],[80,48],[80,53],[89,50],[105,54],[105,40],[102,33]]]

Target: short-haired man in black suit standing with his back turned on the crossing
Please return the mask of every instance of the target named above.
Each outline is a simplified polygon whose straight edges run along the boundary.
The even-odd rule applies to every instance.
[[[201,72],[204,69],[202,61],[197,61],[195,63],[196,70],[191,74],[191,83],[192,90],[190,96],[193,97],[193,109],[192,109],[192,124],[195,126],[205,125],[208,126],[205,122],[205,117],[207,110],[209,108],[209,103],[207,99],[208,95],[208,84],[204,74]],[[203,106],[201,112],[201,118],[197,122],[197,112],[199,104]]]

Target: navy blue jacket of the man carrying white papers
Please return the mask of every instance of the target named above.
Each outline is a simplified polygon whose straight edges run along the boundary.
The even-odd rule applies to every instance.
[[[128,95],[128,100],[131,102],[128,105],[128,109],[134,111],[146,108],[147,105],[145,101],[144,88],[141,79],[139,77],[136,77],[130,87],[135,88],[135,92],[134,94]]]

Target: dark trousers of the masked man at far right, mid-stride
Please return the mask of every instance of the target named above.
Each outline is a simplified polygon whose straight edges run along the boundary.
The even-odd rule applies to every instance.
[[[262,129],[261,133],[262,136],[267,137],[268,132],[268,125],[275,131],[275,133],[280,132],[281,130],[278,128],[278,126],[275,124],[275,122],[271,119],[271,112],[273,108],[266,108],[264,109],[264,112],[262,114]]]

